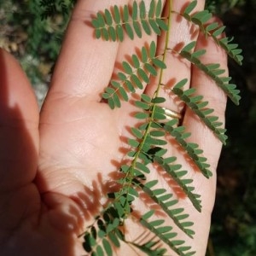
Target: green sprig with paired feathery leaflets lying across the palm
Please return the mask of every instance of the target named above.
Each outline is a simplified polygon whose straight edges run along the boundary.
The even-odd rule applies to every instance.
[[[193,178],[189,171],[179,164],[177,158],[169,155],[165,148],[166,136],[171,136],[203,176],[207,178],[212,176],[207,158],[203,156],[203,151],[198,144],[189,141],[191,134],[186,131],[186,127],[179,125],[177,119],[167,119],[165,109],[161,107],[162,103],[166,102],[164,97],[159,96],[163,85],[163,73],[166,70],[166,54],[170,50],[175,52],[168,48],[171,18],[174,13],[172,1],[169,4],[167,17],[162,16],[162,1],[151,0],[148,12],[144,1],[140,3],[134,1],[131,6],[114,5],[112,9],[99,11],[92,20],[96,38],[123,42],[126,36],[134,39],[142,38],[143,33],[160,35],[166,32],[166,45],[162,55],[156,55],[154,41],[150,42],[148,48],[143,46],[139,54],[131,55],[131,62],[122,62],[122,71],[117,73],[117,79],[111,80],[102,93],[102,98],[108,102],[110,108],[122,108],[121,102],[128,102],[130,95],[139,91],[140,100],[134,101],[133,104],[138,109],[134,118],[141,125],[131,127],[133,137],[127,141],[130,150],[126,154],[130,163],[119,166],[119,172],[122,173],[117,180],[120,185],[119,190],[108,195],[107,206],[103,207],[102,212],[96,216],[95,222],[90,224],[84,232],[84,250],[91,255],[113,255],[113,247],[120,247],[121,242],[137,247],[147,255],[166,255],[166,247],[170,247],[178,255],[195,254],[193,248],[185,241],[179,240],[177,232],[173,231],[174,228],[178,228],[190,238],[195,235],[194,224],[189,220],[186,208],[177,207],[180,199],[175,193],[161,188],[157,179],[148,177],[151,172],[154,172],[149,166],[160,166],[161,172],[177,183],[191,205],[201,212],[201,195],[194,192]],[[183,12],[178,14],[176,12],[176,14],[197,26],[207,39],[212,38],[231,58],[241,64],[241,49],[238,49],[237,44],[231,44],[233,38],[221,37],[224,26],[211,23],[209,20],[212,14],[208,10],[195,12],[196,5],[196,1],[191,1]],[[221,90],[224,90],[233,102],[238,104],[239,90],[236,89],[235,84],[230,84],[231,78],[223,76],[225,71],[218,63],[205,64],[201,61],[201,56],[206,53],[205,49],[197,51],[194,49],[195,42],[191,42],[175,54],[200,68]],[[153,77],[158,78],[157,88],[153,96],[147,96],[142,91]],[[208,102],[204,101],[203,96],[198,95],[195,89],[183,89],[187,82],[187,79],[182,79],[170,90],[207,125],[222,143],[225,143],[227,136],[223,123],[214,115],[213,108],[207,108]],[[133,215],[133,204],[139,200],[142,193],[148,195],[151,201],[172,219],[172,226],[166,225],[164,219],[155,219],[154,210],[143,212],[140,218]],[[148,238],[148,240],[145,238],[146,241],[143,242],[127,241],[123,229],[127,218],[132,218],[137,224],[143,225],[147,232],[154,234],[154,238]],[[160,247],[161,243],[166,247]]]

